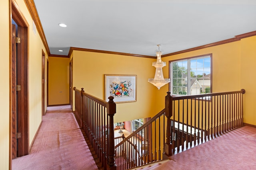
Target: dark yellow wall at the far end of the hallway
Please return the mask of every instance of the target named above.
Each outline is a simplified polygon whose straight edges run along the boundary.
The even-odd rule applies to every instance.
[[[69,104],[69,58],[49,59],[49,105]]]

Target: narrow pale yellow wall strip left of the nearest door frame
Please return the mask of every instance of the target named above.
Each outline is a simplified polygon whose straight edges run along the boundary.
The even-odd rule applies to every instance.
[[[9,167],[9,1],[0,1],[0,165]]]

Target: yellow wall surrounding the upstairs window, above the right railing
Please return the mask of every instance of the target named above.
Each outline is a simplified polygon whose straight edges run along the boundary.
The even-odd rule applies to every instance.
[[[256,95],[254,90],[256,80],[253,78],[253,73],[256,72],[255,45],[256,36],[233,43],[164,57],[162,60],[168,63],[176,59],[212,53],[212,92],[238,91],[244,88],[246,90],[244,95],[244,123],[256,125],[256,116],[254,115],[256,107],[253,104]],[[168,69],[163,70],[163,72],[164,75],[167,75]],[[164,106],[164,103],[159,103],[158,106]]]

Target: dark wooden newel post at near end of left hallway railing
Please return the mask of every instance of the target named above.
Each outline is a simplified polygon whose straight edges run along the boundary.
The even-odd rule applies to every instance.
[[[115,143],[114,143],[114,114],[116,113],[116,103],[113,101],[114,97],[109,96],[107,103],[107,113],[109,116],[109,143],[108,143],[108,169],[116,170],[115,162]]]

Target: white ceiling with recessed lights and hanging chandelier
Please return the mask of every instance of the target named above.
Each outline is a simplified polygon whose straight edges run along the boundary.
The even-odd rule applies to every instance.
[[[256,31],[256,0],[34,0],[50,53],[155,56]],[[59,23],[65,23],[66,28]],[[62,49],[63,52],[58,50]]]

